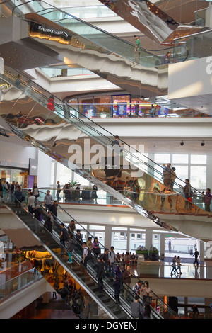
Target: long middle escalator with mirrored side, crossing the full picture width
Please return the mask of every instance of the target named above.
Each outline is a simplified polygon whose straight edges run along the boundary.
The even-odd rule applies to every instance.
[[[175,191],[170,191],[161,181],[162,166],[126,142],[122,142],[122,154],[115,151],[112,133],[67,105],[54,103],[56,111],[50,111],[49,93],[33,81],[29,83],[23,73],[20,81],[16,81],[17,75],[7,64],[0,74],[1,79],[11,84],[2,94],[0,105],[1,121],[9,130],[160,227],[208,239],[211,213],[182,196],[181,179],[175,179]],[[101,154],[96,154],[97,150]],[[187,230],[191,223],[193,228]]]

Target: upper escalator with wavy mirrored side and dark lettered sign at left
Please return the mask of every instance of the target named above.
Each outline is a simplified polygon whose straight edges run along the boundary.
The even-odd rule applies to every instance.
[[[161,55],[141,50],[141,65],[137,64],[134,60],[134,45],[114,38],[54,7],[33,13],[29,7],[33,4],[34,1],[30,1],[28,6],[16,6],[13,16],[1,21],[2,29],[5,29],[6,25],[8,29],[20,31],[13,43],[6,40],[0,46],[1,57],[5,60],[8,57],[8,43],[11,43],[14,52],[19,55],[12,60],[13,67],[33,68],[33,56],[30,52],[32,47],[36,52],[43,50],[44,53],[43,57],[40,54],[36,55],[34,67],[41,66],[47,61],[47,55],[54,52],[54,59],[62,55],[69,63],[89,69],[134,96],[167,95],[167,64],[159,66]],[[21,56],[22,48],[25,57]],[[187,52],[184,47],[179,45],[175,50],[177,58],[186,59]],[[27,58],[29,60],[25,61]],[[53,63],[56,62],[58,61]]]

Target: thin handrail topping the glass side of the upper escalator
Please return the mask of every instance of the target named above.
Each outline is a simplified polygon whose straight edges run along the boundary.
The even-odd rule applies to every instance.
[[[25,2],[24,4],[18,4],[18,5],[16,5],[16,6],[14,6],[13,11],[16,9],[16,7],[23,6],[23,5],[25,5],[25,4],[29,4],[30,2],[34,2],[34,1],[37,1],[37,0],[30,0],[30,1]],[[56,6],[53,6],[53,5],[51,5],[51,4],[48,4],[48,3],[45,2],[45,1],[42,1],[42,2],[43,2],[44,4],[47,4],[48,6],[51,6],[50,8],[52,8],[52,9],[55,9],[55,10],[57,10],[57,11],[61,11],[61,13],[64,13],[64,14],[66,14],[67,16],[70,16],[71,18],[75,18],[76,21],[80,21],[81,23],[85,23],[86,25],[88,25],[88,26],[90,26],[90,27],[92,27],[92,28],[94,28],[94,29],[96,29],[96,30],[99,30],[99,31],[102,32],[102,33],[105,33],[105,34],[107,34],[107,35],[110,35],[112,38],[115,38],[115,39],[117,39],[117,40],[120,40],[120,41],[122,41],[122,42],[124,42],[124,43],[126,43],[126,44],[128,44],[128,45],[134,47],[134,44],[133,44],[133,43],[130,43],[129,41],[124,40],[124,39],[122,39],[122,38],[119,38],[117,35],[113,35],[112,33],[108,33],[107,31],[105,31],[105,30],[103,30],[103,29],[101,29],[101,28],[98,28],[98,27],[96,27],[96,26],[93,26],[93,24],[88,23],[88,22],[86,22],[86,21],[83,21],[81,18],[77,18],[76,16],[73,16],[72,14],[67,13],[66,11],[64,11],[64,10],[62,10],[62,9],[60,9],[60,8],[57,8]],[[46,10],[46,9],[48,9],[48,8],[43,7],[43,10]],[[40,13],[40,11],[37,11],[36,13]],[[12,12],[12,14],[13,14],[13,12]],[[60,20],[58,20],[58,21],[60,21]],[[57,21],[56,21],[56,22],[57,22]],[[183,45],[183,46],[184,46],[184,45]],[[175,47],[176,47],[176,46],[175,46]],[[170,50],[170,49],[175,49],[175,47],[165,47],[165,49],[162,49],[162,51]],[[177,47],[178,47],[178,46],[177,46]],[[180,47],[181,47],[181,45],[180,45]],[[187,47],[184,46],[184,48],[185,48],[186,51],[187,51]],[[148,50],[148,49],[146,49],[146,48],[144,48],[144,47],[142,47],[142,50],[145,50],[146,52],[150,53],[150,55],[153,55],[154,57],[158,57],[158,59],[160,60],[160,56],[158,56],[158,55],[154,55],[154,54],[152,54],[151,52],[160,52],[161,50]],[[187,57],[186,57],[185,59],[187,59]],[[184,60],[183,60],[183,61],[184,61]]]

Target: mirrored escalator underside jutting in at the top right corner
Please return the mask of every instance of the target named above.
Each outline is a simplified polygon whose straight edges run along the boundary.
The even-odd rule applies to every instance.
[[[176,11],[167,13],[167,7],[163,7],[167,1],[100,0],[100,2],[160,45],[172,45],[175,38],[179,36],[204,30],[202,26],[179,23],[177,20],[179,16],[170,15],[175,14]],[[157,2],[161,2],[162,6],[157,6]],[[175,1],[175,5],[176,2],[177,7],[180,8],[178,1]]]

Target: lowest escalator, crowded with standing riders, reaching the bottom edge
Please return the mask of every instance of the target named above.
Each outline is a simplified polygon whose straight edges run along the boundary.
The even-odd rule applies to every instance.
[[[59,266],[62,266],[67,273],[83,288],[83,290],[95,300],[96,303],[105,311],[112,319],[131,319],[130,305],[134,301],[134,294],[129,290],[127,299],[124,299],[124,290],[127,286],[123,283],[123,288],[120,293],[120,303],[117,304],[114,298],[114,287],[110,277],[104,278],[104,291],[99,292],[98,279],[96,278],[97,271],[97,256],[93,254],[92,259],[88,260],[87,267],[83,266],[83,249],[82,244],[73,239],[73,251],[71,252],[73,262],[70,264],[67,260],[69,251],[66,249],[59,239],[61,234],[61,221],[54,216],[54,227],[51,231],[45,227],[45,222],[49,217],[48,213],[42,209],[42,222],[38,221],[25,206],[19,201],[18,205],[14,203],[15,197],[11,196],[11,202],[1,203],[1,208],[11,211],[15,214],[18,220],[33,234],[47,252],[52,256],[54,261],[57,261]],[[13,236],[13,242],[16,242],[16,235]],[[33,247],[33,244],[32,244]],[[36,249],[36,248],[35,248]],[[55,265],[55,262],[54,262]],[[42,276],[49,282],[49,273],[42,271]],[[53,278],[50,283],[55,290],[58,290],[56,278]],[[127,288],[128,290],[128,288]],[[141,300],[142,301],[142,300]],[[155,310],[152,310],[154,319],[162,319]]]

